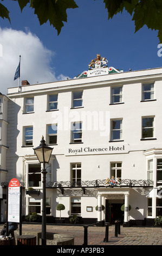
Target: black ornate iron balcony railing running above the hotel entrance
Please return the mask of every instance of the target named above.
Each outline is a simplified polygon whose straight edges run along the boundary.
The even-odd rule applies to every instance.
[[[57,187],[57,188],[70,188],[70,187],[106,187],[106,179],[105,180],[86,180],[86,181],[54,181],[47,182],[47,187]],[[124,179],[116,182],[115,185],[111,187],[133,187],[133,186],[153,186],[153,180],[131,180]]]

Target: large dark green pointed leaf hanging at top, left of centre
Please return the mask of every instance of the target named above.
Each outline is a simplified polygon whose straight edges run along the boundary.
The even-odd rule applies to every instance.
[[[35,9],[40,25],[49,20],[50,25],[56,28],[59,35],[63,21],[67,22],[66,10],[78,6],[74,0],[31,0],[30,7]]]

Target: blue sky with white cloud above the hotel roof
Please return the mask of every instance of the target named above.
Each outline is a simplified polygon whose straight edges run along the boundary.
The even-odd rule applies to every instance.
[[[2,1],[1,1],[2,2]],[[0,92],[18,87],[14,81],[21,55],[22,80],[30,84],[73,79],[88,70],[88,64],[100,54],[108,66],[124,72],[159,68],[158,32],[147,26],[135,32],[134,21],[126,11],[108,20],[103,0],[75,0],[79,8],[67,10],[67,22],[61,33],[50,23],[40,25],[29,4],[21,13],[17,1],[2,4],[10,11],[0,18]]]

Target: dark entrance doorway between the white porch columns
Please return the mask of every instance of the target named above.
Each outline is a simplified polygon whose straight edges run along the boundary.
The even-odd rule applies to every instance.
[[[106,215],[105,222],[115,224],[116,220],[120,220],[121,224],[124,222],[124,212],[121,211],[121,206],[124,204],[124,200],[118,200],[118,203],[111,202],[112,200],[106,199]],[[122,202],[123,201],[123,202]]]

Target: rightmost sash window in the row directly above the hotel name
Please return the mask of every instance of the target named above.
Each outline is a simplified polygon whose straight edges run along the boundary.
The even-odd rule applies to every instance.
[[[154,137],[154,117],[142,117],[142,139]]]

